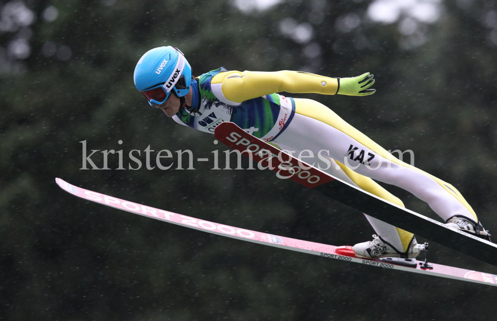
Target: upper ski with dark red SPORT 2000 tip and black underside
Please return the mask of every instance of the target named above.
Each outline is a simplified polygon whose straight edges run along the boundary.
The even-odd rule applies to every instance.
[[[448,227],[352,186],[304,161],[283,153],[248,134],[234,123],[221,123],[216,127],[214,135],[226,146],[256,161],[261,165],[258,165],[259,168],[269,167],[276,171],[276,176],[279,178],[290,178],[380,221],[497,266],[497,245],[490,241]]]

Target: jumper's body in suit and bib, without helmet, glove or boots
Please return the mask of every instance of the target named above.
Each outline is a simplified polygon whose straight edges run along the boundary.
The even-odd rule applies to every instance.
[[[192,80],[192,89],[196,89],[196,81]],[[338,81],[304,72],[239,72],[219,68],[200,76],[199,97],[195,98],[198,93],[194,92],[193,98],[198,106],[192,106],[198,107],[197,112],[183,110],[173,119],[207,133],[214,133],[223,121],[234,122],[294,157],[311,151],[315,160],[303,159],[308,163],[318,160],[321,152],[331,162],[325,171],[399,206],[405,207],[373,179],[411,192],[444,221],[457,215],[478,223],[475,212],[454,186],[398,160],[325,105],[276,93],[281,91],[333,95],[338,91]],[[366,217],[384,241],[399,252],[407,251],[412,233]]]

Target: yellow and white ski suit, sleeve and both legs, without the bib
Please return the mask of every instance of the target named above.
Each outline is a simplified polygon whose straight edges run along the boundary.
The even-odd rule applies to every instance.
[[[210,85],[218,88],[216,97],[220,101],[232,105],[282,91],[327,95],[338,91],[335,78],[293,71],[219,72],[212,77]],[[316,156],[320,151],[328,151],[329,154],[321,152],[331,160],[331,167],[326,171],[367,192],[404,207],[399,198],[374,181],[378,180],[411,192],[445,221],[457,215],[478,222],[475,212],[454,186],[395,158],[327,106],[311,99],[293,101],[295,112],[291,122],[272,141],[280,149],[295,152],[296,157],[304,150]],[[400,252],[408,249],[412,233],[366,217],[384,241]]]

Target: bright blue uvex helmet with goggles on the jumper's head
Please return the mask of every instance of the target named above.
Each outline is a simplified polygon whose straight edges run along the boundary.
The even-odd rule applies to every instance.
[[[191,67],[179,49],[154,48],[140,58],[133,79],[136,89],[147,97],[151,106],[161,105],[171,92],[178,97],[190,92]]]

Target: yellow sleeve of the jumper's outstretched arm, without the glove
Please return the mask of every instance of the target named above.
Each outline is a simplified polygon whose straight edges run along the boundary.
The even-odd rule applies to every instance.
[[[338,91],[336,78],[289,70],[271,73],[223,72],[214,76],[211,83],[222,83],[224,96],[234,102],[242,102],[280,91],[313,92],[325,95],[334,95]]]

